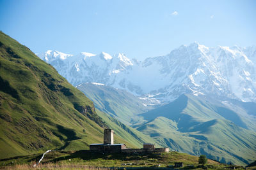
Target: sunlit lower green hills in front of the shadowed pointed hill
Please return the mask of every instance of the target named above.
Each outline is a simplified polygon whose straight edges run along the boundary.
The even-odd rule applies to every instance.
[[[180,132],[177,122],[157,117],[138,130],[160,145],[191,155],[207,155],[210,159],[243,166],[256,159],[255,132],[228,120],[210,120],[191,127],[189,132]]]

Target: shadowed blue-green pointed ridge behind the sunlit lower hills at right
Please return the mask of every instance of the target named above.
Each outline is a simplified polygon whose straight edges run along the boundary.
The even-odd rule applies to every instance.
[[[246,107],[248,104],[252,107]],[[239,127],[256,131],[256,117],[252,115],[254,113],[252,110],[253,104],[241,103],[231,99],[221,101],[221,99],[212,97],[182,94],[172,103],[165,104],[138,116],[143,117],[145,120],[166,117],[179,122],[180,128],[189,128],[198,122],[221,118],[230,120]]]

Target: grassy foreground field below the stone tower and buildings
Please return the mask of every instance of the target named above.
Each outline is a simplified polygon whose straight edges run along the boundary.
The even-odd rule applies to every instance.
[[[28,155],[22,157],[13,157],[10,159],[1,159],[0,167],[6,169],[32,169],[38,162],[42,154]],[[74,152],[50,152],[47,153],[37,168],[42,169],[89,169],[89,168],[118,168],[125,167],[172,167],[175,162],[184,162],[185,169],[202,169],[198,167],[198,157],[186,153],[90,153],[88,150]],[[230,169],[234,166],[221,164],[214,160],[207,160],[205,165],[207,169]],[[236,166],[236,169],[243,167]]]

